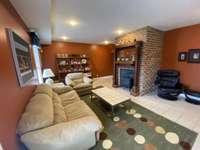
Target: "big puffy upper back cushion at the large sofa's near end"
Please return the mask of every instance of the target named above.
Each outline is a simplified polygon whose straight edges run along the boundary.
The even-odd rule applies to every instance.
[[[53,124],[53,103],[46,94],[33,96],[26,106],[18,127],[17,132],[22,135],[29,131],[48,127]]]

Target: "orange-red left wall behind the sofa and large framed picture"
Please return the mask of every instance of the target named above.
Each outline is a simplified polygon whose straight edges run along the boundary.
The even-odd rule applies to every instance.
[[[30,42],[27,27],[8,0],[0,1],[0,143],[4,150],[18,150],[17,121],[33,86],[20,88],[5,28],[11,28]]]

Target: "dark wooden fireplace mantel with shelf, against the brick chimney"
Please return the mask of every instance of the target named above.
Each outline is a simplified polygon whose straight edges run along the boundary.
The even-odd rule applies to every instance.
[[[134,96],[139,96],[139,77],[140,77],[140,56],[142,49],[142,41],[135,41],[133,45],[130,46],[116,46],[114,50],[114,60],[113,60],[113,87],[119,87],[118,83],[118,68],[127,67],[134,68],[133,80],[134,85],[131,89],[131,94]],[[121,59],[129,60],[121,60]],[[131,58],[134,58],[131,60]]]

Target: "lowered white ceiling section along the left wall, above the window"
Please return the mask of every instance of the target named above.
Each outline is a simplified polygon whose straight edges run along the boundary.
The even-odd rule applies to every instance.
[[[35,29],[41,43],[51,43],[51,0],[10,0],[25,24]]]

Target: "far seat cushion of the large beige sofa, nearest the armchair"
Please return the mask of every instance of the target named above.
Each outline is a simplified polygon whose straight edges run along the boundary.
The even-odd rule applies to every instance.
[[[76,101],[80,101],[80,97],[76,93],[76,91],[70,91],[64,94],[59,95],[62,105],[66,106],[68,104],[74,103]]]

